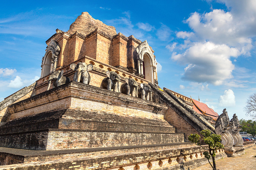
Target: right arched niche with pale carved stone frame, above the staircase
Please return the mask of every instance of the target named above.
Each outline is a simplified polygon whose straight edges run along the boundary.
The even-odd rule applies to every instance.
[[[136,48],[138,76],[145,78],[152,84],[157,82],[156,56],[149,47],[147,40],[140,43]]]

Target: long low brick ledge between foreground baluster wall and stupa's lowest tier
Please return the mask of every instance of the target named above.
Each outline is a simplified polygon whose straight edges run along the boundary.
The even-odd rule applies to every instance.
[[[88,156],[106,156],[111,154],[138,153],[148,152],[153,150],[163,149],[180,149],[196,146],[190,142],[172,143],[172,144],[147,144],[147,145],[132,145],[132,146],[116,146],[116,147],[101,147],[101,148],[86,148],[86,149],[65,149],[55,151],[35,151],[27,149],[13,149],[0,147],[1,156],[12,155],[16,160],[20,159],[19,163],[29,163],[37,161],[49,161],[56,159],[67,158],[83,158]],[[9,156],[10,157],[10,156]],[[22,161],[23,160],[23,161]],[[7,160],[6,160],[7,161]],[[1,161],[2,162],[2,161]]]

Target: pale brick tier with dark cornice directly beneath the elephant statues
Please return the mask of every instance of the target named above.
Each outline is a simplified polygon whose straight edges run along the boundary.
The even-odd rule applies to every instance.
[[[101,99],[99,101],[99,99]],[[73,108],[80,110],[98,110],[118,115],[132,115],[147,118],[164,119],[167,107],[147,100],[131,97],[85,85],[78,82],[57,87],[40,93],[28,100],[9,106],[11,120],[35,115],[49,110]],[[138,110],[139,109],[139,110]]]

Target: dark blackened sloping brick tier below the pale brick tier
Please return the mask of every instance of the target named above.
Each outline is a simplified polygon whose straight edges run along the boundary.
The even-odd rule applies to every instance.
[[[41,129],[81,129],[175,133],[162,119],[115,115],[99,111],[62,109],[14,119],[0,126],[0,134]]]

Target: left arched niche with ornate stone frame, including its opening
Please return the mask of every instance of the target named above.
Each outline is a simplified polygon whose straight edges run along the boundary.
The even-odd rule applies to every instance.
[[[42,58],[41,78],[55,71],[57,67],[59,54],[60,54],[59,44],[56,41],[51,39],[48,47],[46,48],[45,54]]]

